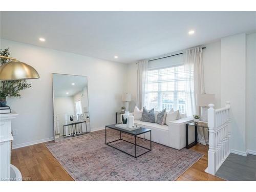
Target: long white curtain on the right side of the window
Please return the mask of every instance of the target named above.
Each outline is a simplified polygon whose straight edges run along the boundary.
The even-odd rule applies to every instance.
[[[196,106],[196,95],[204,93],[204,70],[202,58],[202,46],[184,51],[185,66],[185,100],[188,117],[200,114],[199,106]],[[208,131],[198,127],[198,141],[202,144],[208,142]]]

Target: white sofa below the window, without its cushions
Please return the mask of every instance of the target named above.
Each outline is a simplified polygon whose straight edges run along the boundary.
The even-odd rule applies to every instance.
[[[168,125],[134,120],[134,124],[151,129],[152,141],[176,148],[177,150],[181,150],[186,145],[186,123],[190,122],[193,122],[193,118],[169,121]],[[193,137],[193,134],[189,133],[189,141],[191,136]],[[150,133],[142,134],[139,137],[150,140]]]

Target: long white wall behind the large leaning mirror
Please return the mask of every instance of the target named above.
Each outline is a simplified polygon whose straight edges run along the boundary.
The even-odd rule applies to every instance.
[[[53,139],[52,73],[88,76],[92,130],[115,122],[115,111],[126,92],[125,64],[1,39],[1,49],[7,47],[10,56],[33,66],[40,75],[29,80],[32,88],[21,91],[21,99],[7,99],[19,114],[12,124],[18,130],[14,147]]]

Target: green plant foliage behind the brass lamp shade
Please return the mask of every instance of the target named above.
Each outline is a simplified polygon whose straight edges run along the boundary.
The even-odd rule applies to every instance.
[[[8,57],[10,55],[9,48],[0,49],[0,55]],[[0,66],[10,62],[9,59],[0,58]],[[19,97],[20,90],[24,90],[31,87],[31,83],[26,80],[12,80],[12,81],[0,81],[0,99],[5,100],[6,97]]]

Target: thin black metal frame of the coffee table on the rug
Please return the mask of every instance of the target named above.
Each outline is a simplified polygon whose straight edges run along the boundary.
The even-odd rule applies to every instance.
[[[126,133],[126,132],[122,132],[122,131],[120,131],[120,130],[116,130],[116,131],[120,131],[120,139],[117,139],[117,140],[115,140],[115,141],[111,141],[111,142],[108,142],[108,143],[107,143],[107,142],[106,142],[106,128],[113,129],[113,128],[111,128],[111,127],[105,126],[105,144],[106,144],[106,145],[109,145],[109,146],[115,148],[116,150],[119,150],[119,151],[121,151],[121,152],[123,152],[123,153],[125,153],[125,154],[127,154],[127,155],[130,155],[130,156],[132,156],[132,157],[135,157],[135,158],[138,158],[138,157],[140,157],[140,156],[146,154],[147,152],[151,152],[151,151],[152,151],[151,130],[147,131],[147,132],[150,132],[150,148],[146,148],[146,147],[144,147],[144,146],[141,146],[141,145],[138,145],[138,144],[137,144],[137,136],[138,136],[138,135],[141,135],[141,134],[144,134],[144,133],[147,133],[147,132],[143,132],[143,133],[138,134],[138,135],[133,135],[133,134],[129,134],[129,133]],[[115,130],[115,129],[113,129],[113,130]],[[132,142],[130,142],[130,141],[126,141],[126,140],[122,139],[122,133],[127,134],[127,135],[135,136],[135,143],[132,143]],[[142,139],[142,138],[141,138],[141,139]],[[125,151],[122,151],[122,150],[120,150],[120,149],[117,148],[117,147],[114,147],[114,146],[110,145],[110,143],[113,143],[113,142],[116,142],[116,141],[119,141],[119,140],[122,140],[122,141],[125,141],[125,142],[128,142],[128,143],[134,144],[134,145],[135,145],[135,156],[132,155],[132,154],[129,154],[129,153],[125,152]],[[142,153],[142,154],[140,154],[140,155],[137,156],[137,146],[142,147],[142,148],[145,148],[145,149],[148,150],[148,151],[146,151],[146,152],[144,152],[144,153]]]

